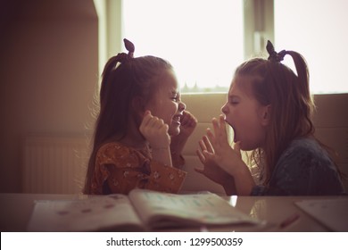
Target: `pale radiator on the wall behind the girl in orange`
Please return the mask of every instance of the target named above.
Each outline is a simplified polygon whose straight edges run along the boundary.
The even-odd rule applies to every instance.
[[[87,137],[27,137],[23,142],[23,192],[80,193],[87,148]]]

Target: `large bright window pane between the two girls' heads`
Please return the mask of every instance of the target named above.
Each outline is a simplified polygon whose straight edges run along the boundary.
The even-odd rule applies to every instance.
[[[127,0],[122,14],[136,56],[170,61],[182,92],[228,91],[244,60],[242,0]]]

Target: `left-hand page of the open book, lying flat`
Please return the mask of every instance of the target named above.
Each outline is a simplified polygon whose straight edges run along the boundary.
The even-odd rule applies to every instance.
[[[29,231],[139,230],[141,222],[128,197],[95,196],[74,200],[38,200]]]

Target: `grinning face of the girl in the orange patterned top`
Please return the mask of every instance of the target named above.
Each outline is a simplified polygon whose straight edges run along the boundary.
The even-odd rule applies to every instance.
[[[180,119],[186,105],[181,102],[173,71],[165,71],[159,80],[159,87],[145,108],[169,125],[170,136],[176,136],[180,133]]]

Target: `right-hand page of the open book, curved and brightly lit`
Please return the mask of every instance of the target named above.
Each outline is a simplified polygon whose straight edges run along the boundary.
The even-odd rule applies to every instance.
[[[174,195],[135,189],[129,198],[150,228],[258,223],[212,193]]]

